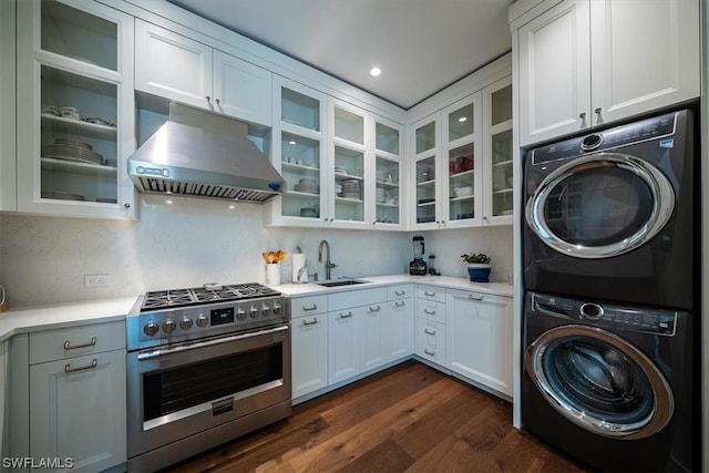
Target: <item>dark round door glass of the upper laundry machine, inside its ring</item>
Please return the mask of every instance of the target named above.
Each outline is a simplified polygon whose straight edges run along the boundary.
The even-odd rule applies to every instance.
[[[616,166],[579,171],[548,194],[544,218],[559,239],[603,246],[635,235],[650,218],[653,193],[634,173]]]

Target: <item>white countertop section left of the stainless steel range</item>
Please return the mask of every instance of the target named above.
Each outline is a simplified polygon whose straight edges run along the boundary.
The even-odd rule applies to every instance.
[[[136,300],[137,296],[10,309],[0,313],[0,341],[30,331],[125,320]]]

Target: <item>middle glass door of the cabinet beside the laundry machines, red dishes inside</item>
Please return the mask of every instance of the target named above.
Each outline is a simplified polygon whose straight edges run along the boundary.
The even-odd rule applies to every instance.
[[[482,214],[481,95],[443,110],[445,145],[441,174],[445,227],[477,225]]]

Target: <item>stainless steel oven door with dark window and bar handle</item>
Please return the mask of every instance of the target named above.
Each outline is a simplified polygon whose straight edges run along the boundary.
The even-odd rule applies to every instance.
[[[127,354],[129,457],[291,395],[288,325]]]

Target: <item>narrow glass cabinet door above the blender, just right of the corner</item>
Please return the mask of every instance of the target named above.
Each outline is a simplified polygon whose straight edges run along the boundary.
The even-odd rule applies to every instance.
[[[440,225],[439,173],[440,121],[439,114],[423,119],[411,127],[412,140],[412,226],[415,228],[438,228]]]

